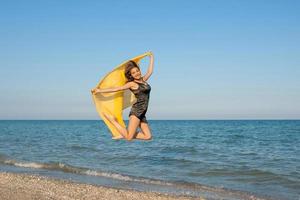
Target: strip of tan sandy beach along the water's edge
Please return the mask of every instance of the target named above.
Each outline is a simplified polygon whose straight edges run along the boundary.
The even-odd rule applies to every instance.
[[[203,199],[115,189],[28,174],[0,173],[1,200],[32,199]]]

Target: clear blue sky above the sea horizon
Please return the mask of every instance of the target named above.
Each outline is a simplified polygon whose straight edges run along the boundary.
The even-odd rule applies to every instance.
[[[150,120],[300,119],[299,11],[296,0],[1,1],[0,119],[99,119],[90,90],[148,50]]]

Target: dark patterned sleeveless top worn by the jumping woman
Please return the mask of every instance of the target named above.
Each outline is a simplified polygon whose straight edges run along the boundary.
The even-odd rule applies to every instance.
[[[136,81],[134,81],[136,82]],[[149,84],[136,82],[139,87],[136,90],[130,89],[135,95],[137,101],[132,105],[130,114],[134,114],[138,118],[143,118],[148,109],[151,87]]]

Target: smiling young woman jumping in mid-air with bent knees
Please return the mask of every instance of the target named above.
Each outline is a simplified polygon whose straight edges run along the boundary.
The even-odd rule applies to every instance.
[[[120,138],[124,138],[126,140],[132,139],[140,139],[140,140],[151,140],[152,134],[150,131],[150,127],[148,125],[148,121],[146,119],[146,112],[149,104],[149,97],[151,87],[146,82],[153,72],[153,54],[150,53],[150,64],[147,73],[142,76],[140,67],[134,61],[130,60],[125,67],[125,76],[127,78],[127,83],[123,86],[115,87],[115,88],[106,88],[106,89],[95,89],[92,92],[117,92],[120,90],[130,89],[137,101],[132,105],[132,108],[129,113],[129,124],[127,129],[122,127],[118,121],[107,113],[103,113],[103,115],[109,120],[120,132],[122,135]],[[136,132],[137,128],[140,127],[141,132]]]

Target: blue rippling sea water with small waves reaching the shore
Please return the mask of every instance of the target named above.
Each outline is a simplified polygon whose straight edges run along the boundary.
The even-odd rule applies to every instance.
[[[149,125],[151,141],[128,142],[100,120],[2,120],[0,171],[208,199],[300,198],[300,120]]]

